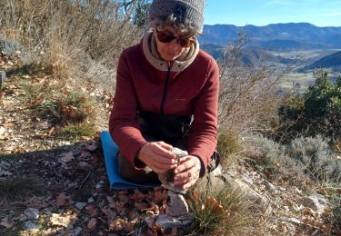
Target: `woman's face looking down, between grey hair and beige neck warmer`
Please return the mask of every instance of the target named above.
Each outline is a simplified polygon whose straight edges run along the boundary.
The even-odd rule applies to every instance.
[[[168,43],[162,43],[157,36],[157,32],[168,34],[170,36],[173,35],[176,38]],[[181,32],[177,31],[172,26],[166,26],[160,31],[157,30],[157,32],[155,32],[156,46],[161,58],[168,62],[176,60],[176,58],[179,57],[186,49],[186,47],[178,44],[178,39],[183,38],[185,35],[181,34]]]

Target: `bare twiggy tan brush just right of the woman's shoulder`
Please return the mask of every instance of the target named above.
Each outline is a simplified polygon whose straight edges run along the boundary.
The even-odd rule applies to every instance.
[[[243,135],[265,130],[276,117],[276,82],[284,72],[261,64],[247,66],[241,62],[240,50],[248,43],[246,36],[226,47],[220,68],[219,129]]]

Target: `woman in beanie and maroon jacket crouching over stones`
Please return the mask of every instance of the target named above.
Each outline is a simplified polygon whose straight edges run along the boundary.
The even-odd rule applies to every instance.
[[[209,169],[216,149],[219,73],[199,49],[205,0],[155,0],[150,31],[121,54],[109,131],[120,148],[119,172],[157,182],[174,170],[188,189]],[[173,146],[188,152],[176,163]]]

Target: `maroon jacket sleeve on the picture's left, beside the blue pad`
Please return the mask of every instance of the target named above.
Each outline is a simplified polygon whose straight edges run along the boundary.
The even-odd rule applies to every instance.
[[[121,54],[117,72],[114,105],[109,132],[125,158],[135,166],[135,156],[146,143],[136,121],[137,97],[128,66],[128,56]],[[136,166],[135,166],[136,168]]]

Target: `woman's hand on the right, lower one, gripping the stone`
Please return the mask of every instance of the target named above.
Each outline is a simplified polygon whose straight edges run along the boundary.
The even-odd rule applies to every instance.
[[[200,170],[201,162],[198,157],[189,155],[181,158],[174,171],[174,184],[180,189],[188,189],[199,179]]]

